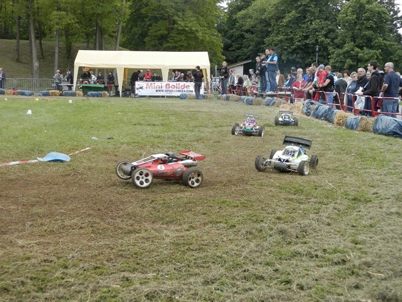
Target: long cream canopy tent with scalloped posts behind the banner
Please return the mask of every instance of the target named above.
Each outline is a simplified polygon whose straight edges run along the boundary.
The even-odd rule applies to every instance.
[[[127,69],[161,69],[162,80],[169,78],[169,69],[195,69],[199,66],[204,73],[204,81],[210,79],[210,58],[207,51],[113,51],[113,50],[78,50],[74,61],[74,86],[77,82],[79,67],[116,68],[119,89],[122,91]],[[105,80],[107,75],[105,75]]]

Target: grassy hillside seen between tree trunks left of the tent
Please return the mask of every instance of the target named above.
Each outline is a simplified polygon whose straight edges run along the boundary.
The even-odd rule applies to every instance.
[[[38,47],[38,62],[39,62],[39,77],[43,79],[51,79],[54,75],[54,41],[42,41],[44,58],[39,53]],[[31,63],[30,63],[30,48],[29,41],[20,41],[20,61],[14,61],[14,49],[16,47],[16,40],[3,40],[0,39],[0,66],[4,68],[7,78],[32,78]],[[65,57],[64,43],[60,42],[59,50],[59,65],[58,69],[64,70],[66,68],[74,67],[75,56],[78,49],[86,49],[85,43],[77,43],[73,45],[71,62],[67,62]],[[106,46],[106,50],[113,50],[114,46]],[[125,50],[120,48],[120,50]]]

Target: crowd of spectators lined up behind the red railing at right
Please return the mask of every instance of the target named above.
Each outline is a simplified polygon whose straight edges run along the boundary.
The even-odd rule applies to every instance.
[[[377,110],[392,117],[398,112],[402,78],[394,71],[392,62],[384,65],[385,72],[376,61],[370,61],[366,68],[342,72],[314,62],[305,68],[306,74],[302,68],[291,67],[285,79],[278,69],[278,60],[275,49],[267,48],[265,54],[255,57],[255,71],[249,69],[249,75],[243,77],[235,69],[229,69],[224,61],[219,74],[221,94],[227,91],[238,95],[283,93],[290,95],[290,103],[311,99],[338,109],[342,103],[348,111],[367,116]],[[364,105],[357,107],[357,103]]]

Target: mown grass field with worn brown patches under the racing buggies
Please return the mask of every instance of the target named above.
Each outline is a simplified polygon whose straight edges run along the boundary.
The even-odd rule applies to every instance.
[[[34,98],[0,100],[1,163],[93,148],[0,167],[1,301],[402,300],[402,140],[219,100]],[[264,137],[230,134],[245,112]],[[254,168],[285,134],[313,140],[309,176]],[[197,189],[114,171],[186,149]]]

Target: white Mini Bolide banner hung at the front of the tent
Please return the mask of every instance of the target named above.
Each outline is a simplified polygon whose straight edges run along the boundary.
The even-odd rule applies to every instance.
[[[135,82],[135,92],[139,96],[180,96],[182,93],[195,93],[193,82]],[[201,86],[204,94],[204,83]]]

